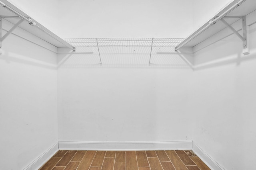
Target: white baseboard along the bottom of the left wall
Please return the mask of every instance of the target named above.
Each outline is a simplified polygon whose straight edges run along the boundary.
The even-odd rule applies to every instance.
[[[47,160],[49,160],[57,151],[58,143],[50,147],[50,149],[46,150],[41,156],[36,158],[31,164],[29,164],[23,170],[38,170]]]

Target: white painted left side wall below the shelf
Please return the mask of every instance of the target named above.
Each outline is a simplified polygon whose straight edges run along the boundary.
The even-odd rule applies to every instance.
[[[42,41],[22,29],[14,33]],[[56,53],[13,34],[2,45],[0,169],[22,170],[58,142]]]

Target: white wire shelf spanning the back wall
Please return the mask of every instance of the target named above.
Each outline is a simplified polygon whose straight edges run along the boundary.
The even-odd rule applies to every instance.
[[[76,38],[65,39],[68,43],[80,47],[175,47],[183,38]],[[98,43],[98,45],[97,45]]]

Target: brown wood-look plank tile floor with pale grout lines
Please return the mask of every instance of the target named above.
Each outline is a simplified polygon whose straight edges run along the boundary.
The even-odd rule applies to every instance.
[[[210,170],[192,150],[59,150],[40,170]]]

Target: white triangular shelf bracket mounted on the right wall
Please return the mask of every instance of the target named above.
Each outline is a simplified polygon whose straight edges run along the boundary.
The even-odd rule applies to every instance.
[[[243,54],[244,55],[250,54],[249,48],[248,48],[249,36],[247,36],[249,31],[247,30],[247,27],[246,27],[246,16],[237,16],[237,18],[242,18],[242,35],[238,33],[238,31],[236,31],[236,29],[234,29],[227,21],[225,21],[224,18],[220,19],[220,21],[222,21],[222,23],[227,25],[234,32],[234,34],[236,34],[243,41]]]

